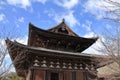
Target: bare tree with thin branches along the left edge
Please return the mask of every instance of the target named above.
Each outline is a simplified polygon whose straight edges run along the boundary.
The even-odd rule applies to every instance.
[[[5,37],[8,35],[8,33],[5,31],[4,27],[1,28],[0,31],[0,77],[5,76],[5,74],[9,71],[9,68],[7,66],[7,63],[5,62],[5,58],[7,56],[7,48],[5,46]]]

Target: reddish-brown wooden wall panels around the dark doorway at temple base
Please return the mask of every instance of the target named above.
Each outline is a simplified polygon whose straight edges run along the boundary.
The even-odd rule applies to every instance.
[[[58,80],[83,80],[82,71],[55,71],[55,70],[35,70],[34,80],[50,80],[51,73],[58,73]],[[74,73],[74,75],[73,75]],[[28,80],[28,79],[26,79]]]

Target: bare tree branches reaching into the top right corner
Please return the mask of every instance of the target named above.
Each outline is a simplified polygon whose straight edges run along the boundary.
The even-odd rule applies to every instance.
[[[104,0],[104,2],[105,3],[101,5],[106,12],[103,18],[120,22],[120,0]]]

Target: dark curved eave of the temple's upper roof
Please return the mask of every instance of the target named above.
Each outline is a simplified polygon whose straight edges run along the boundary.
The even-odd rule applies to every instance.
[[[33,35],[34,34],[34,35]],[[70,35],[66,35],[66,34],[59,34],[59,33],[54,33],[54,32],[50,32],[47,30],[43,30],[40,28],[37,28],[36,26],[34,26],[33,24],[29,24],[29,38],[28,38],[28,45],[31,44],[32,39],[34,38],[35,35],[42,35],[45,37],[48,37],[48,39],[51,38],[56,38],[56,39],[65,39],[65,40],[73,40],[73,41],[77,41],[80,43],[80,45],[82,44],[82,48],[80,49],[79,52],[84,51],[85,49],[87,49],[88,47],[90,47],[93,43],[96,42],[96,40],[98,39],[98,37],[93,37],[93,38],[83,38],[83,37],[76,37],[76,36],[70,36]],[[43,35],[44,34],[44,35]],[[83,43],[84,44],[83,44]]]

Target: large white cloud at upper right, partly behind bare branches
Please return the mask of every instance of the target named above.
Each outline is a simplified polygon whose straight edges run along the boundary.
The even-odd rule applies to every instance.
[[[107,1],[107,0],[106,0]],[[96,16],[97,19],[102,19],[103,17],[116,18],[115,14],[106,14],[108,10],[115,10],[118,7],[114,7],[113,4],[106,2],[105,0],[88,0],[84,4],[85,12],[89,12]],[[120,0],[111,0],[120,3]],[[109,7],[108,7],[109,6]],[[106,8],[107,7],[107,8]]]

